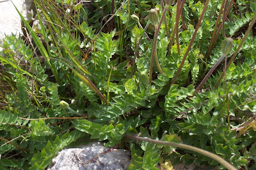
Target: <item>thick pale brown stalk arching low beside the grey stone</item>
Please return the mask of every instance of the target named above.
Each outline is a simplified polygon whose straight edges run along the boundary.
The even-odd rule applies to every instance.
[[[202,150],[200,148],[196,148],[194,146],[190,146],[188,144],[158,141],[158,140],[155,140],[155,139],[150,139],[150,138],[145,138],[145,137],[138,137],[138,136],[135,136],[135,135],[124,135],[124,137],[127,138],[127,139],[135,140],[135,141],[144,141],[144,142],[148,142],[148,143],[161,144],[161,145],[166,145],[166,146],[173,146],[173,147],[176,147],[176,148],[182,148],[184,150],[195,151],[197,153],[205,155],[206,157],[212,158],[212,159],[216,160],[217,162],[220,162],[220,164],[225,166],[227,169],[236,170],[236,167],[232,166],[232,164],[228,163],[227,160],[224,160],[223,158],[219,157],[218,155],[216,155],[214,153],[211,153],[209,151]]]

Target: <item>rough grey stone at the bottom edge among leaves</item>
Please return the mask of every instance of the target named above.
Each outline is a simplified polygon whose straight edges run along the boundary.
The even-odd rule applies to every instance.
[[[129,151],[115,149],[108,153],[100,154],[108,149],[109,148],[102,146],[101,143],[90,143],[79,148],[62,150],[53,158],[48,170],[121,170],[129,167],[131,155]],[[95,158],[86,164],[86,162],[93,157]]]

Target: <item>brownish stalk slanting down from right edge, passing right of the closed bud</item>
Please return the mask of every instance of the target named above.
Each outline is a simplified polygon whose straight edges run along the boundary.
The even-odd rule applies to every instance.
[[[239,44],[239,46],[238,46],[237,49],[236,49],[236,52],[233,54],[232,58],[231,58],[230,61],[228,62],[228,65],[227,65],[226,70],[227,70],[228,67],[231,65],[231,63],[234,61],[234,59],[236,58],[236,55],[238,54],[238,52],[239,52],[239,50],[241,49],[243,43],[245,42],[247,36],[249,35],[249,33],[250,33],[251,29],[252,29],[252,26],[253,26],[255,20],[256,20],[256,14],[253,16],[252,22],[250,22],[250,25],[249,25],[249,27],[248,27],[248,29],[247,29],[247,31],[246,31],[244,37],[243,37],[243,40],[241,41],[241,43]],[[216,84],[214,85],[214,88],[216,88],[216,87],[218,86],[218,84],[219,84],[219,82],[221,81],[221,79],[223,78],[223,76],[224,76],[224,72],[221,73],[221,76],[220,76],[220,78],[218,79],[218,81],[216,82]]]

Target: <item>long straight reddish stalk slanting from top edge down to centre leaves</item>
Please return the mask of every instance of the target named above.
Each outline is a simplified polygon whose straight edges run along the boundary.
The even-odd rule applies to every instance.
[[[187,56],[188,56],[188,52],[189,52],[189,50],[191,49],[192,43],[194,42],[195,37],[196,37],[196,33],[197,33],[197,31],[198,31],[198,28],[199,28],[199,26],[200,26],[200,24],[201,24],[201,22],[202,22],[203,17],[204,17],[204,13],[206,12],[208,3],[209,3],[209,0],[207,0],[207,1],[205,2],[205,4],[204,4],[204,10],[202,11],[201,16],[200,16],[200,19],[199,19],[198,22],[197,22],[195,32],[193,33],[193,36],[192,36],[192,38],[191,38],[191,41],[189,42],[189,45],[188,45],[188,49],[186,50],[186,53],[185,53],[185,55],[184,55],[184,58],[182,59],[182,61],[181,61],[181,63],[180,63],[180,66],[179,66],[177,72],[175,73],[175,76],[173,77],[173,81],[172,81],[171,85],[175,83],[175,81],[176,81],[176,79],[177,79],[177,77],[178,77],[178,75],[179,75],[179,73],[180,73],[180,70],[181,70],[182,66],[184,65],[184,62],[185,62],[185,60],[186,60],[186,58],[187,58]]]

